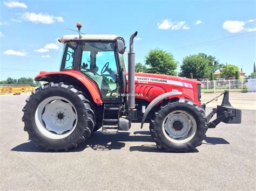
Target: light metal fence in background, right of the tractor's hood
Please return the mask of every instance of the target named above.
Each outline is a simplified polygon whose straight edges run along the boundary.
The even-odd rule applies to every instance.
[[[212,80],[201,81],[201,91],[207,93],[229,91],[247,91],[247,80]]]

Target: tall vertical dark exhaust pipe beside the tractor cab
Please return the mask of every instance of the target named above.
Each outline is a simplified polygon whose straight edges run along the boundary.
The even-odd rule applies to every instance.
[[[128,108],[135,108],[135,53],[133,52],[133,39],[137,36],[138,32],[134,32],[130,37],[130,51],[128,53]]]

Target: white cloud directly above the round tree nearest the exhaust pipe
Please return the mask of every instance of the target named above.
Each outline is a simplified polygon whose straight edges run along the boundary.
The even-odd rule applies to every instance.
[[[171,19],[164,19],[161,20],[159,23],[157,23],[157,27],[158,29],[162,29],[162,30],[179,30],[179,29],[190,29],[190,27],[188,27],[186,25],[186,22],[184,21],[172,21]]]

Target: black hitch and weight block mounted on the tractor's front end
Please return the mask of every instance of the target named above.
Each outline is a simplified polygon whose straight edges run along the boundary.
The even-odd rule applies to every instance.
[[[208,128],[215,128],[220,122],[232,123],[232,124],[241,123],[241,110],[235,109],[231,106],[228,98],[229,97],[228,91],[224,91],[221,95],[223,94],[224,94],[224,97],[221,105],[217,105],[217,108],[213,108],[210,114],[206,116]],[[217,97],[213,98],[211,101],[216,100]],[[207,102],[207,103],[210,103],[210,102]],[[206,104],[203,105],[204,108]],[[214,114],[217,114],[217,118],[214,119],[212,122],[210,122]]]

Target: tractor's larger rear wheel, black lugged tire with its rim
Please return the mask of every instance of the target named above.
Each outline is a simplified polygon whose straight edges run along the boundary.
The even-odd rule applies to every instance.
[[[82,92],[64,83],[41,86],[26,99],[24,131],[46,151],[68,151],[90,137],[95,114]]]

